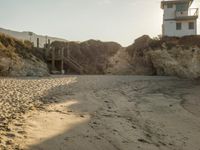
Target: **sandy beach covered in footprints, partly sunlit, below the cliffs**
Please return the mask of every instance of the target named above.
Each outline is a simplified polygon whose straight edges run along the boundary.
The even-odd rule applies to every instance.
[[[0,149],[200,150],[199,81],[64,76],[0,84]]]

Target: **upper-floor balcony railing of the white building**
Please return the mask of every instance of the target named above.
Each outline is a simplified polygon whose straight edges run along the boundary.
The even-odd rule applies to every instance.
[[[199,9],[198,8],[190,8],[188,11],[176,11],[176,18],[198,18]]]

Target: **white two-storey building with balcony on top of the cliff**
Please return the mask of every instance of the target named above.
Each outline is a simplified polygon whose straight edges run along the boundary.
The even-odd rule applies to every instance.
[[[198,8],[190,8],[193,0],[163,0],[163,36],[182,37],[197,34]]]

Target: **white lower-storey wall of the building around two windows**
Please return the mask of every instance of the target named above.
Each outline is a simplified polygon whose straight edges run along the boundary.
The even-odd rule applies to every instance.
[[[193,30],[189,29],[189,22],[195,22],[195,27]],[[176,22],[182,23],[182,29],[176,30]],[[196,21],[188,20],[188,21],[164,21],[164,36],[186,36],[186,35],[196,35]]]

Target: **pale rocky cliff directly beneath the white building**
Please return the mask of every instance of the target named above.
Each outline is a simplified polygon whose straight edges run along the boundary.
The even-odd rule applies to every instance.
[[[136,73],[200,77],[200,36],[160,39],[142,36],[127,51]]]

